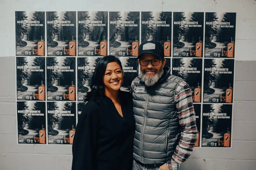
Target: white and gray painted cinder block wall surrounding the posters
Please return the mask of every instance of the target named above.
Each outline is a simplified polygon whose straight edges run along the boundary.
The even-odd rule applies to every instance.
[[[1,0],[0,169],[70,170],[71,145],[17,145],[15,11],[204,11],[236,12],[232,148],[195,148],[180,170],[256,169],[255,0]],[[122,169],[120,167],[120,169]]]

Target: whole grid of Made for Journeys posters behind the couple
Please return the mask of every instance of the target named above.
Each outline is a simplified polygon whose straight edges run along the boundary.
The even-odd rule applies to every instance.
[[[231,148],[236,13],[15,11],[15,28],[18,143],[72,144],[99,60],[121,61],[129,92],[139,45],[158,41],[191,89],[195,147]]]

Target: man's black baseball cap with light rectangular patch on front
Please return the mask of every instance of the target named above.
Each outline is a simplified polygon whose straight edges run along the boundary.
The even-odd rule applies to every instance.
[[[157,41],[144,41],[139,47],[139,55],[137,58],[140,58],[144,53],[151,53],[158,58],[164,59],[164,48],[160,42]]]

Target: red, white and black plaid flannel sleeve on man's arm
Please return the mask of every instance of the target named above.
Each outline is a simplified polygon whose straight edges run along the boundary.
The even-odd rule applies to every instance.
[[[192,93],[189,85],[184,81],[180,82],[175,94],[174,100],[179,117],[181,138],[172,155],[172,159],[167,162],[167,167],[171,170],[177,170],[180,164],[188,159],[198,138]]]

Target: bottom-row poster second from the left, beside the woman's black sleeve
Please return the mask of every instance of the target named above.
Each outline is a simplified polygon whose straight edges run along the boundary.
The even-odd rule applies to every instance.
[[[73,144],[76,102],[47,102],[48,144]]]

